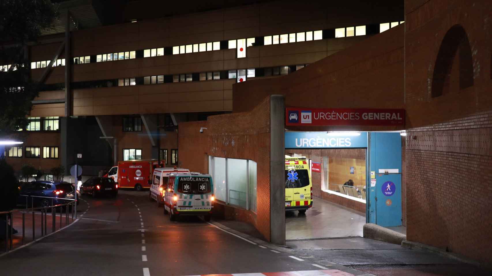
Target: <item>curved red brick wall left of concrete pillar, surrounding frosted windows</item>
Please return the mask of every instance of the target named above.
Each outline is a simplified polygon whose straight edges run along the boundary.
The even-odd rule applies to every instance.
[[[200,127],[208,129],[199,134]],[[208,155],[257,163],[256,214],[244,209],[231,213],[229,208],[224,208],[224,212],[228,210],[224,216],[252,223],[270,240],[270,97],[250,112],[181,123],[178,133],[180,164],[191,171],[208,173]]]

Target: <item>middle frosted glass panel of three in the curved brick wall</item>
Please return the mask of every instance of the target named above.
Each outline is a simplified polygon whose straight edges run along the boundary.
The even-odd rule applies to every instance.
[[[247,160],[227,159],[229,203],[246,208]]]

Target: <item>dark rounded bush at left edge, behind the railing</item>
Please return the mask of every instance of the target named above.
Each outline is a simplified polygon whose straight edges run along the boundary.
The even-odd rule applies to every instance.
[[[5,158],[0,158],[0,179],[0,211],[12,210],[19,196],[19,182],[14,169],[7,164]]]

